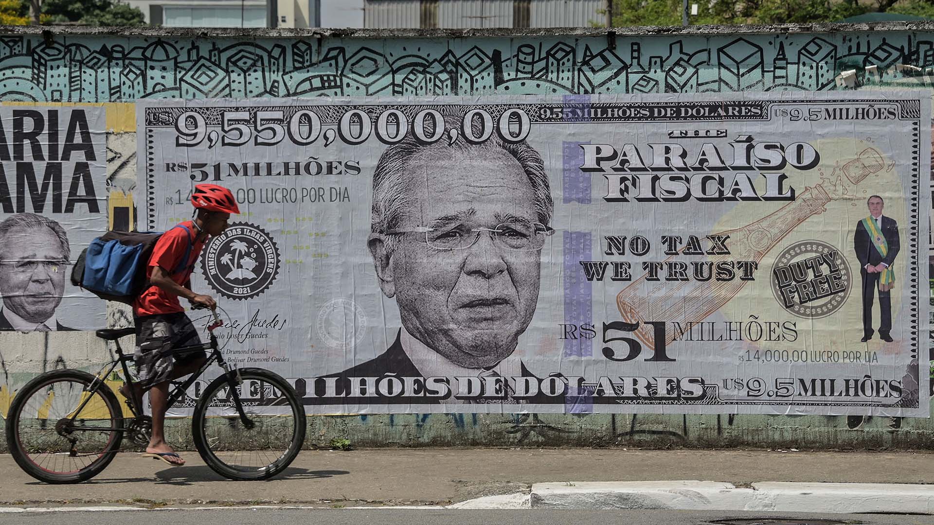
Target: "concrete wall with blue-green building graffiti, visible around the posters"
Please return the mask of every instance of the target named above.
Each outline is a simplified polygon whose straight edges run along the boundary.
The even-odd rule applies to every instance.
[[[483,31],[0,28],[4,103],[104,104],[110,209],[132,210],[134,101],[160,97],[934,89],[934,24]],[[167,74],[156,73],[167,66]],[[852,73],[843,73],[851,72]],[[489,73],[492,73],[490,75]],[[52,76],[64,76],[52,78]],[[240,80],[240,81],[237,81]],[[113,305],[110,326],[130,322]],[[932,344],[934,346],[934,344]],[[0,333],[0,414],[36,373],[96,370],[93,333]],[[403,415],[309,419],[309,443],[932,447],[931,419]],[[171,438],[188,443],[184,420]]]

